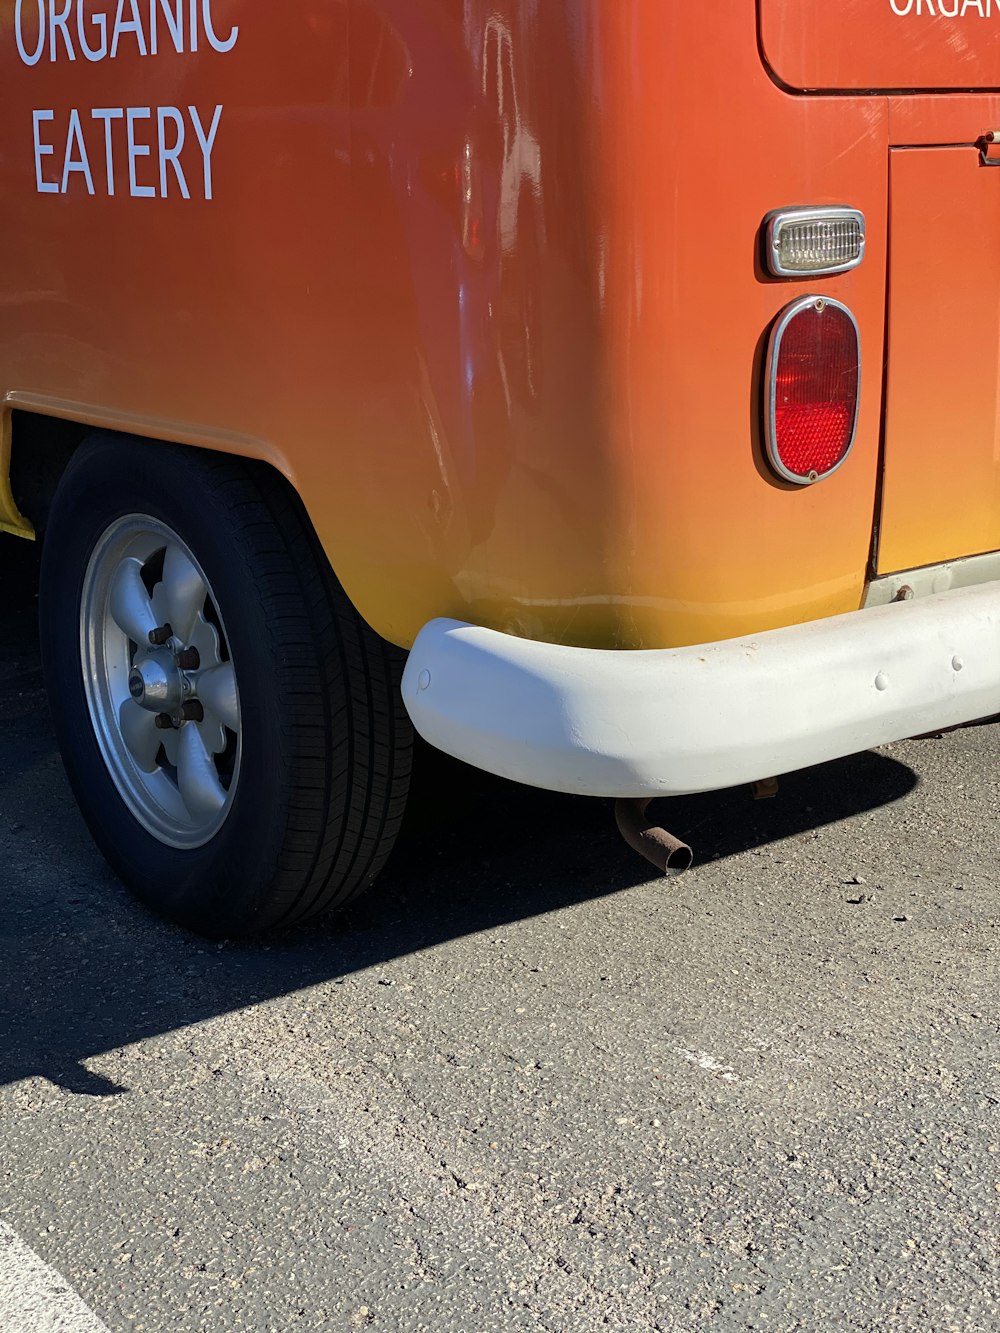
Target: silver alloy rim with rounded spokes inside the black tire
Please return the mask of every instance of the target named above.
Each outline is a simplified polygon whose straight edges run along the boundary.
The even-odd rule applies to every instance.
[[[204,846],[236,794],[240,696],[219,603],[167,524],[131,515],[97,543],[84,576],[80,660],[121,798],[160,842]]]

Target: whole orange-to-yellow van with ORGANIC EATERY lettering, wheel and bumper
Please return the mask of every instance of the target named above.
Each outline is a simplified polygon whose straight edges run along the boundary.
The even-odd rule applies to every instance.
[[[159,909],[344,902],[411,728],[635,825],[1000,710],[999,0],[0,0],[0,527]]]

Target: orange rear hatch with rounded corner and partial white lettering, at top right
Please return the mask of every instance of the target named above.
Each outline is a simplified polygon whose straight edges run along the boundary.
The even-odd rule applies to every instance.
[[[759,0],[775,77],[803,91],[1000,87],[996,0]]]

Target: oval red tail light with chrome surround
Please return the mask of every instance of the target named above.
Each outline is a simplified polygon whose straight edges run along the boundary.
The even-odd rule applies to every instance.
[[[861,347],[840,301],[807,296],[779,317],[768,349],[767,447],[775,472],[808,485],[847,459],[857,428]]]

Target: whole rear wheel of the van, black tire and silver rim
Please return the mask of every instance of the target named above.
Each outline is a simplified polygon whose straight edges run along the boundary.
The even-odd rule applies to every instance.
[[[372,881],[409,777],[397,655],[280,477],[93,437],[55,497],[40,608],[71,784],[141,898],[225,936]]]

